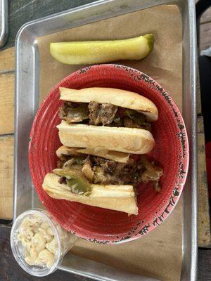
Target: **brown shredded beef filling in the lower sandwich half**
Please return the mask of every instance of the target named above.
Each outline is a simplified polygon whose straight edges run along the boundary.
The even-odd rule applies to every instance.
[[[149,162],[145,155],[141,155],[137,161],[130,157],[127,163],[118,163],[92,155],[80,157],[63,155],[63,160],[58,162],[58,168],[81,171],[91,183],[137,185],[151,181],[153,188],[156,191],[160,190],[162,169]]]

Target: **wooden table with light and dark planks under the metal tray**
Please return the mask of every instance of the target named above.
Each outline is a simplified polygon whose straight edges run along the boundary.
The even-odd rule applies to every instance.
[[[11,0],[9,1],[9,37],[0,51],[0,219],[12,219],[13,207],[13,143],[14,143],[14,42],[21,25],[29,20],[41,18],[51,13],[90,3],[91,0]],[[207,14],[205,26],[207,30]],[[211,17],[210,17],[211,19]],[[211,29],[210,29],[211,30]],[[207,37],[206,43],[207,44]],[[211,44],[210,44],[211,45]],[[210,217],[208,213],[207,183],[205,177],[205,150],[203,134],[203,117],[198,100],[198,226],[200,247],[210,247]],[[27,275],[15,262],[11,253],[9,235],[11,228],[0,226],[0,280],[39,280]],[[198,280],[211,280],[211,250],[199,249]],[[53,273],[45,280],[88,280],[77,275],[59,272]],[[43,279],[42,279],[43,280]]]

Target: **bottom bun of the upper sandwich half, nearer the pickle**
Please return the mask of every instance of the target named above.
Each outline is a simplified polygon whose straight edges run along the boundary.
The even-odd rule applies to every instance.
[[[120,152],[146,154],[155,141],[144,129],[68,124],[58,126],[60,142],[71,148],[101,148]]]

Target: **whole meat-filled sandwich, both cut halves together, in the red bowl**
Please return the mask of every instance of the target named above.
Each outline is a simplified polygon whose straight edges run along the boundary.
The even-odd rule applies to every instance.
[[[138,214],[137,187],[160,190],[162,169],[146,153],[158,109],[138,93],[111,88],[60,88],[57,168],[43,188],[56,199]]]

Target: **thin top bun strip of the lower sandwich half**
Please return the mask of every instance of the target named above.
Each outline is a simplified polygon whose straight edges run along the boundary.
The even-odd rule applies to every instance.
[[[119,163],[127,163],[129,160],[129,153],[105,149],[103,150],[102,148],[68,148],[68,146],[63,145],[56,150],[56,155],[58,157],[62,157],[63,155],[79,156],[82,154],[94,155]]]

